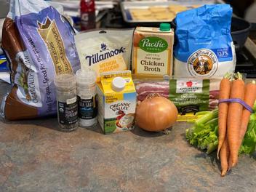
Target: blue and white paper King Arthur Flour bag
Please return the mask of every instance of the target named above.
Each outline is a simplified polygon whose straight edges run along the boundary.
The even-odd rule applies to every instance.
[[[177,14],[174,76],[217,78],[234,71],[231,17],[228,4],[204,5]]]

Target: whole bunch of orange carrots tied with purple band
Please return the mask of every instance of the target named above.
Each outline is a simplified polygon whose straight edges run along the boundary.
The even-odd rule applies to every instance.
[[[231,81],[231,76],[226,75],[220,81],[219,99],[244,100],[252,108],[256,99],[255,81],[245,85],[241,73],[236,73],[234,77]],[[228,169],[235,167],[238,162],[239,148],[247,131],[250,114],[241,103],[219,104],[217,158],[220,157],[221,176],[224,176]]]

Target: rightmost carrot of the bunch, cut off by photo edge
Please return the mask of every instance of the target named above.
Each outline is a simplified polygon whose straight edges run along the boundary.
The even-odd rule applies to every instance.
[[[245,86],[244,102],[247,103],[247,105],[249,105],[252,108],[255,103],[255,99],[256,99],[256,84],[255,84],[255,81],[252,81]],[[244,108],[241,114],[239,148],[244,139],[245,132],[247,132],[247,126],[249,123],[250,115],[251,115],[251,112],[249,112],[246,108]]]

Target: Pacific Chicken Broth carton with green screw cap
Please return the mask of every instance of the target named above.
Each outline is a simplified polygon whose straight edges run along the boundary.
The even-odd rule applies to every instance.
[[[133,37],[133,77],[171,76],[173,42],[174,32],[168,23],[161,23],[160,28],[137,27]]]

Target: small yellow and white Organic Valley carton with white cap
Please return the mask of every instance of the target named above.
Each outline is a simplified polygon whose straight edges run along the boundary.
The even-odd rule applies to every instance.
[[[131,71],[102,73],[97,83],[98,121],[105,134],[134,128],[137,95]]]

